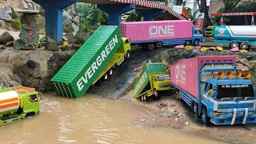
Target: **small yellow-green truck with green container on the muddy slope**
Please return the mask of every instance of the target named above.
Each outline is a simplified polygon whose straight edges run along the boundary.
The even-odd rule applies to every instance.
[[[170,75],[162,62],[146,63],[134,84],[134,98],[159,98],[159,92],[173,91]]]

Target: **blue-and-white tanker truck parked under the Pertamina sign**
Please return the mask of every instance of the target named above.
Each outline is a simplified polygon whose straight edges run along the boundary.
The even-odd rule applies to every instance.
[[[214,43],[247,50],[256,45],[256,26],[217,26]]]

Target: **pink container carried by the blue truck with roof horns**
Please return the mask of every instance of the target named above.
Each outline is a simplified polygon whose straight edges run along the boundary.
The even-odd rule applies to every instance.
[[[170,79],[174,85],[198,97],[198,70],[205,62],[236,62],[234,56],[214,56],[182,59],[170,65]]]

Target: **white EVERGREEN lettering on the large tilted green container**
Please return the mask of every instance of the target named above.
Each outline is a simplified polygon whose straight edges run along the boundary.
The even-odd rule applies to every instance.
[[[105,47],[105,49],[102,50],[100,55],[98,55],[95,62],[93,62],[91,66],[86,70],[84,76],[78,79],[77,86],[79,91],[81,91],[84,88],[84,84],[86,84],[88,80],[94,76],[99,66],[102,65],[102,62],[105,61],[105,59],[110,54],[111,50],[114,49],[114,46],[116,46],[117,43],[118,43],[118,35],[115,35],[114,38],[110,40],[109,44]]]

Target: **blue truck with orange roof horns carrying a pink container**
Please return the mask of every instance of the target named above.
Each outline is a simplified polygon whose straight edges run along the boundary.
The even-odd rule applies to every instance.
[[[234,56],[182,59],[170,66],[177,99],[206,125],[256,123],[256,96],[250,72],[237,70]]]

